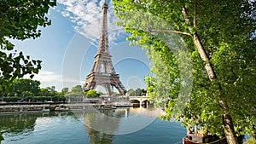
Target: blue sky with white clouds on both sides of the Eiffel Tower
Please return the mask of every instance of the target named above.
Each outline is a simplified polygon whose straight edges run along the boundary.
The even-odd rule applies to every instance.
[[[58,0],[48,17],[52,25],[40,27],[41,37],[16,41],[15,49],[43,60],[43,68],[34,79],[41,87],[73,87],[83,84],[90,73],[100,34],[103,0]],[[112,3],[107,1],[108,38],[113,66],[126,89],[145,88],[143,77],[149,74],[145,50],[130,47],[122,27],[114,25]]]

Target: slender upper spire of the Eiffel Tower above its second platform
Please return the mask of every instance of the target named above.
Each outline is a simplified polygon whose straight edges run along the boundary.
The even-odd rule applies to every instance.
[[[99,37],[99,44],[96,55],[109,55],[108,50],[108,4],[103,3],[102,5],[102,26],[101,35]]]

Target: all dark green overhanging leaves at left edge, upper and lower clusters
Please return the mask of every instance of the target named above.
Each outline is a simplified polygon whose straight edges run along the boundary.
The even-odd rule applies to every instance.
[[[0,2],[0,92],[6,92],[15,78],[38,73],[41,60],[30,60],[30,56],[13,51],[15,45],[9,39],[25,40],[40,37],[38,26],[49,26],[45,16],[55,0]]]

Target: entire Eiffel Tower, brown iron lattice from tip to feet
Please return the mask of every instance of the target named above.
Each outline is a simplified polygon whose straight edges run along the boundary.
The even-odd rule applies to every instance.
[[[121,95],[125,95],[126,89],[119,80],[119,74],[114,71],[111,55],[109,55],[107,18],[108,4],[106,4],[106,1],[102,6],[102,10],[101,35],[97,54],[90,74],[87,75],[84,89],[95,89],[96,85],[102,85],[106,89],[108,95],[112,95],[113,89],[111,89],[111,87],[115,87],[119,90]]]

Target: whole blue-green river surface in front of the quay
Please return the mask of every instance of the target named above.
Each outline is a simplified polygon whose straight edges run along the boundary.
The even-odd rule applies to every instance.
[[[153,114],[152,114],[153,113]],[[148,108],[0,115],[1,144],[176,144],[186,130]],[[2,140],[3,139],[3,140]]]

